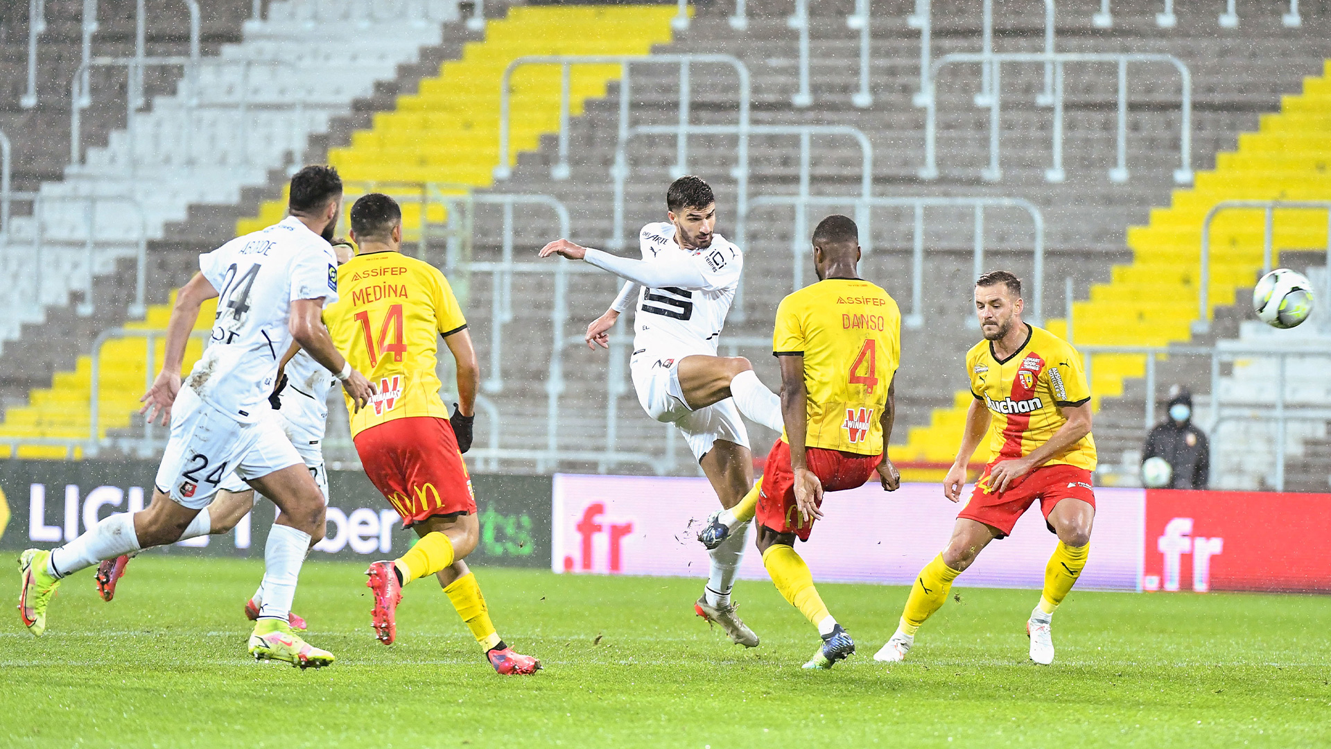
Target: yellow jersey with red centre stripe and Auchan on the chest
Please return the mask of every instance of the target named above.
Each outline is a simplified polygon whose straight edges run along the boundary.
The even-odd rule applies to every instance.
[[[990,460],[1025,457],[1067,422],[1063,406],[1090,400],[1081,356],[1049,331],[1026,325],[1026,343],[1008,359],[990,341],[966,353],[970,394],[989,408]],[[1086,434],[1045,465],[1095,469],[1095,440]]]

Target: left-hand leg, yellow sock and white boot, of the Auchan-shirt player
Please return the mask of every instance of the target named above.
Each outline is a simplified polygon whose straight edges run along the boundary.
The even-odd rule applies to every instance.
[[[952,538],[948,546],[933,561],[924,565],[914,584],[910,585],[910,596],[906,606],[901,612],[901,621],[897,632],[873,656],[876,661],[900,662],[914,645],[916,632],[934,612],[942,608],[952,590],[952,581],[966,570],[980,552],[998,537],[998,532],[982,522],[966,517],[958,517],[952,529]]]

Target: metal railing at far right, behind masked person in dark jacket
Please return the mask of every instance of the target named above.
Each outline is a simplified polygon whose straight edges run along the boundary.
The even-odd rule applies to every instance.
[[[1069,323],[1070,327],[1070,323]],[[1258,347],[1189,347],[1189,345],[1170,345],[1170,347],[1113,347],[1113,345],[1082,345],[1078,347],[1085,361],[1086,381],[1094,386],[1093,380],[1093,357],[1095,355],[1138,355],[1146,359],[1146,409],[1145,418],[1142,424],[1142,436],[1145,438],[1146,433],[1155,426],[1155,363],[1159,357],[1169,356],[1206,356],[1210,359],[1210,422],[1207,426],[1207,434],[1211,438],[1211,453],[1215,453],[1215,445],[1219,438],[1218,426],[1226,421],[1275,421],[1276,424],[1276,438],[1275,438],[1275,476],[1272,480],[1274,489],[1276,492],[1284,490],[1284,461],[1286,461],[1286,424],[1290,421],[1331,421],[1331,409],[1326,408],[1307,408],[1307,409],[1290,409],[1286,389],[1288,384],[1287,377],[1287,360],[1291,356],[1327,356],[1327,349],[1324,345],[1310,345],[1307,348],[1258,348]],[[1278,364],[1278,377],[1275,382],[1275,397],[1274,405],[1268,406],[1264,402],[1259,402],[1256,398],[1247,401],[1247,404],[1229,404],[1222,402],[1219,393],[1221,388],[1221,363],[1234,363],[1240,359],[1254,359],[1254,357],[1275,357]],[[1211,476],[1210,482],[1214,485],[1217,482],[1217,470],[1219,468],[1218,460],[1211,460]]]

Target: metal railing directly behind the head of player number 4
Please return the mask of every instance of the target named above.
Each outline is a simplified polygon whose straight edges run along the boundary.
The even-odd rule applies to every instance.
[[[807,260],[808,228],[807,216],[811,205],[840,207],[855,205],[856,223],[860,224],[860,244],[865,253],[872,251],[873,228],[869,215],[873,208],[909,208],[914,213],[912,231],[912,275],[910,275],[910,312],[901,321],[908,328],[924,325],[924,219],[925,208],[969,208],[974,215],[974,251],[973,273],[974,277],[984,275],[985,263],[985,209],[986,208],[1017,208],[1030,216],[1034,240],[1032,243],[1032,285],[1029,320],[1044,324],[1044,288],[1045,288],[1045,217],[1033,203],[1020,197],[856,197],[856,196],[797,196],[764,195],[755,197],[751,209],[763,205],[789,205],[795,208],[795,228],[792,229],[791,252],[796,259],[793,285],[795,289],[804,287],[804,265]]]

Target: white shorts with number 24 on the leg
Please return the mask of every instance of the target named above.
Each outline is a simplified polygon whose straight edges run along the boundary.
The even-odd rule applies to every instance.
[[[276,420],[241,424],[205,404],[194,390],[181,388],[156,485],[181,506],[204,509],[232,472],[260,478],[299,462]]]

